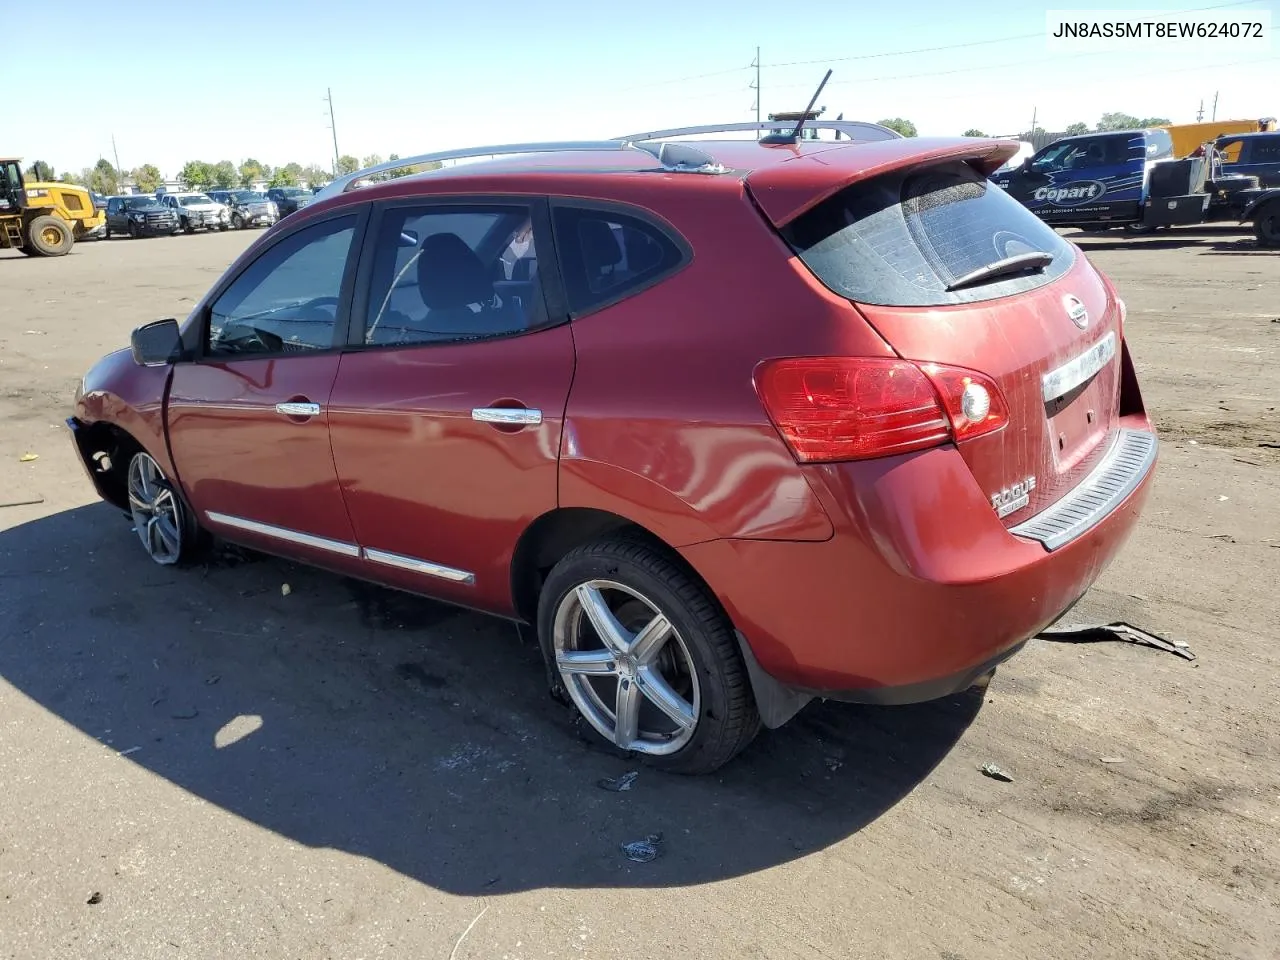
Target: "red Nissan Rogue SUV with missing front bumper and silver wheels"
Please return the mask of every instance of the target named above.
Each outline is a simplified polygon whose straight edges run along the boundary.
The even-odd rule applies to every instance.
[[[988,183],[1014,145],[822,125],[353,174],[90,371],[90,476],[159,563],[207,531],[535,625],[669,769],[961,690],[1137,522],[1124,305]]]

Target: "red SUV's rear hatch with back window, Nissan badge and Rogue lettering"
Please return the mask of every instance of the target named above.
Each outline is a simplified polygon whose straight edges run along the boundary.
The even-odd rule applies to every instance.
[[[941,159],[858,179],[782,236],[904,360],[995,385],[989,410],[1005,422],[957,447],[1011,526],[1084,479],[1116,439],[1121,333],[1097,271],[986,166]],[[984,393],[974,398],[987,415]],[[948,411],[959,428],[963,411]]]

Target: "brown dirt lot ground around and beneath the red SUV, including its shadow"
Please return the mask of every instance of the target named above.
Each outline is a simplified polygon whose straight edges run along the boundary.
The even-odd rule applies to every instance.
[[[248,239],[0,255],[0,504],[40,500],[0,507],[0,957],[1280,956],[1280,253],[1076,237],[1164,447],[1071,618],[1194,662],[1036,640],[986,692],[814,704],[716,777],[608,792],[631,765],[511,626],[275,559],[161,570],[93,499],[77,378]]]

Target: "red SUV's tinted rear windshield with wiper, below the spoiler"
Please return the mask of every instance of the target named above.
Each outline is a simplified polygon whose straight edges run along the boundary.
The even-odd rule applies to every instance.
[[[1051,283],[1075,260],[1051,227],[959,161],[856,183],[788,224],[783,237],[835,293],[881,306],[1007,297]],[[973,279],[1010,259],[1029,265]]]

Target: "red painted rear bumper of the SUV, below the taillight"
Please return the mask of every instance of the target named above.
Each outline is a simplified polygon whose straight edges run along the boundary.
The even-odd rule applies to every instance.
[[[1149,435],[1146,416],[1126,420]],[[829,540],[713,540],[681,553],[785,687],[928,700],[969,686],[1092,586],[1133,531],[1153,467],[1152,447],[1140,476],[1052,550],[1005,529],[959,452],[938,448],[822,467],[814,485],[842,518]]]

